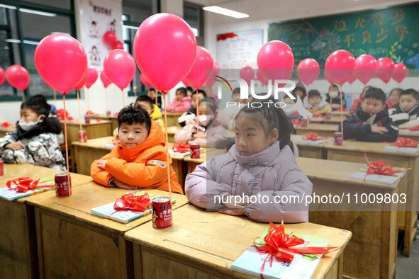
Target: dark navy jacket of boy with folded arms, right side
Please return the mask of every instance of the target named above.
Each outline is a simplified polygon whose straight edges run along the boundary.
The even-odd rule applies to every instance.
[[[373,125],[386,127],[388,132],[383,134],[372,133],[371,125],[364,124],[371,116],[364,113],[361,104],[357,106],[357,114],[352,115],[343,121],[344,139],[357,139],[360,142],[395,142],[398,137],[398,126],[389,118],[389,108],[384,108],[380,113],[376,113]],[[338,127],[341,131],[341,127]]]

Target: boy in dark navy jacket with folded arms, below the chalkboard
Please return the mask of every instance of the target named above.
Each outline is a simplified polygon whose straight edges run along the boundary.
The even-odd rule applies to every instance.
[[[339,125],[339,131],[341,130]],[[370,87],[357,106],[357,114],[343,121],[344,139],[362,142],[395,142],[398,127],[389,118],[386,94],[381,89]]]

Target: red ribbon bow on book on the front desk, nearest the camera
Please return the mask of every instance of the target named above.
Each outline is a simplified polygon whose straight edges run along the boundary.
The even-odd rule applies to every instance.
[[[259,249],[262,254],[268,254],[267,258],[265,258],[262,268],[260,268],[260,278],[263,278],[263,271],[264,265],[267,259],[271,258],[271,267],[272,267],[272,259],[275,256],[278,260],[286,261],[291,263],[294,259],[294,254],[304,254],[304,256],[309,256],[311,258],[317,258],[312,255],[307,254],[323,254],[335,249],[339,249],[340,247],[294,247],[296,245],[304,244],[304,239],[298,238],[295,235],[286,234],[284,222],[281,222],[279,227],[276,227],[275,224],[269,222],[270,229],[266,237],[263,238],[265,241],[265,245],[258,245],[253,241],[253,244],[257,249]],[[258,237],[257,239],[260,239]],[[256,239],[255,239],[256,240]]]

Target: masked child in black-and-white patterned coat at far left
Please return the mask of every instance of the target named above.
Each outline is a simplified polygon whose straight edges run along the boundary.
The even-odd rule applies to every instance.
[[[0,153],[8,164],[34,164],[66,171],[57,135],[61,123],[48,118],[50,106],[43,98],[30,98],[21,105],[16,130],[0,138]]]

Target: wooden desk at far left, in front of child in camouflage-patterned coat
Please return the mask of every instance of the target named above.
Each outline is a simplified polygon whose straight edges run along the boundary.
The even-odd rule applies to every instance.
[[[31,164],[4,164],[4,176],[0,176],[0,187],[6,187],[6,181],[21,176],[54,179],[55,173],[60,172],[62,171]],[[89,176],[81,176],[76,173],[70,175],[73,187],[91,181]],[[54,190],[49,193],[55,195]],[[37,195],[45,194],[47,192]],[[20,198],[12,202],[0,198],[0,271],[2,278],[38,278],[35,216],[33,207],[26,205],[28,198]]]

